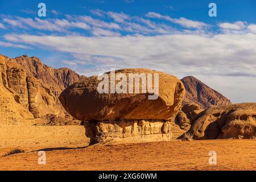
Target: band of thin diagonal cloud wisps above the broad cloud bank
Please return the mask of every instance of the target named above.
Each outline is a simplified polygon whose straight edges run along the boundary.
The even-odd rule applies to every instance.
[[[105,18],[112,18],[114,21],[105,21],[101,19],[92,18],[92,16],[76,16],[66,15],[67,19],[39,19],[39,18],[23,18],[20,16],[8,16],[3,18],[3,22],[9,24],[12,27],[18,27],[26,30],[31,28],[52,32],[64,32],[65,34],[76,34],[74,31],[70,31],[75,28],[87,30],[83,33],[90,33],[89,35],[96,36],[119,36],[121,32],[127,32],[127,34],[142,34],[142,35],[159,35],[159,34],[176,34],[180,32],[171,27],[168,23],[153,22],[150,19],[141,18],[138,16],[130,16],[124,13],[115,13],[113,11],[94,10],[94,14],[100,14]],[[169,16],[162,16],[156,13],[148,13],[148,16],[164,17],[172,22],[182,24],[184,27],[200,27],[200,22],[195,22],[189,19],[171,19]],[[108,19],[109,20],[109,19]],[[98,28],[98,29],[97,29]],[[100,29],[99,29],[100,28]],[[201,30],[201,29],[200,29]],[[198,30],[181,30],[185,34],[198,34]],[[88,34],[87,34],[88,35]]]

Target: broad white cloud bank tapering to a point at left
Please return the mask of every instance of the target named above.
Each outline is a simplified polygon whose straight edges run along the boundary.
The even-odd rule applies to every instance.
[[[32,36],[6,40],[68,52],[122,60],[125,67],[152,66],[166,72],[256,77],[256,35]],[[106,62],[105,64],[108,64]],[[189,68],[188,68],[189,67]],[[195,70],[193,70],[195,68]]]

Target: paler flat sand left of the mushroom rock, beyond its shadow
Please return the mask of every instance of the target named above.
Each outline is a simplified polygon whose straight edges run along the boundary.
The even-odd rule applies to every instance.
[[[88,145],[84,126],[0,125],[0,155],[19,148],[24,151]]]

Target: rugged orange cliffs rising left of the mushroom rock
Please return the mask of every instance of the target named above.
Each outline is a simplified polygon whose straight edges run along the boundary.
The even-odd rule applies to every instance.
[[[59,94],[82,79],[68,68],[53,69],[28,56],[11,59],[0,55],[0,73],[1,107],[6,108],[0,110],[5,118],[0,124],[25,124],[27,119],[46,118],[47,114],[65,118],[68,113],[59,102]]]

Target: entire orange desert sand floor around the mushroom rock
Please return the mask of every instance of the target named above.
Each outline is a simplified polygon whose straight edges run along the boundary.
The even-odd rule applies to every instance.
[[[3,133],[3,131],[5,131]],[[215,139],[86,147],[83,126],[0,126],[1,170],[255,170],[256,140]],[[2,156],[13,148],[23,153]],[[46,165],[38,151],[46,151]],[[208,163],[217,152],[217,165]]]

